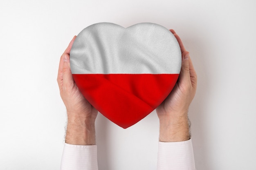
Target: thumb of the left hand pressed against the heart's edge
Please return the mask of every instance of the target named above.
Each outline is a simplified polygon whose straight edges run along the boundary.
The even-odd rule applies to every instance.
[[[70,70],[70,56],[66,53],[63,54],[63,86],[70,86],[74,83],[74,79]]]

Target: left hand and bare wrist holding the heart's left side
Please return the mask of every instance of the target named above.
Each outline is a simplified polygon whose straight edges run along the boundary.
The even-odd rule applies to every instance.
[[[57,77],[61,98],[67,109],[66,143],[94,145],[94,123],[98,110],[83,97],[70,70],[70,50],[75,38],[76,36],[61,56]]]

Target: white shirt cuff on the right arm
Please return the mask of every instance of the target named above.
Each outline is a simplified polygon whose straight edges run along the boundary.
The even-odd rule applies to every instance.
[[[157,170],[195,170],[191,139],[158,143]]]

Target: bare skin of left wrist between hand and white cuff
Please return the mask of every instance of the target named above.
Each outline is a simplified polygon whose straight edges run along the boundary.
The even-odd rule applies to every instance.
[[[95,145],[94,122],[95,120],[81,117],[68,117],[65,142],[73,145]]]

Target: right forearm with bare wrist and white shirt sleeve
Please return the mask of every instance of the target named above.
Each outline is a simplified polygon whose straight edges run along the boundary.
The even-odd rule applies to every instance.
[[[159,120],[157,170],[195,170],[187,112],[159,117]]]

